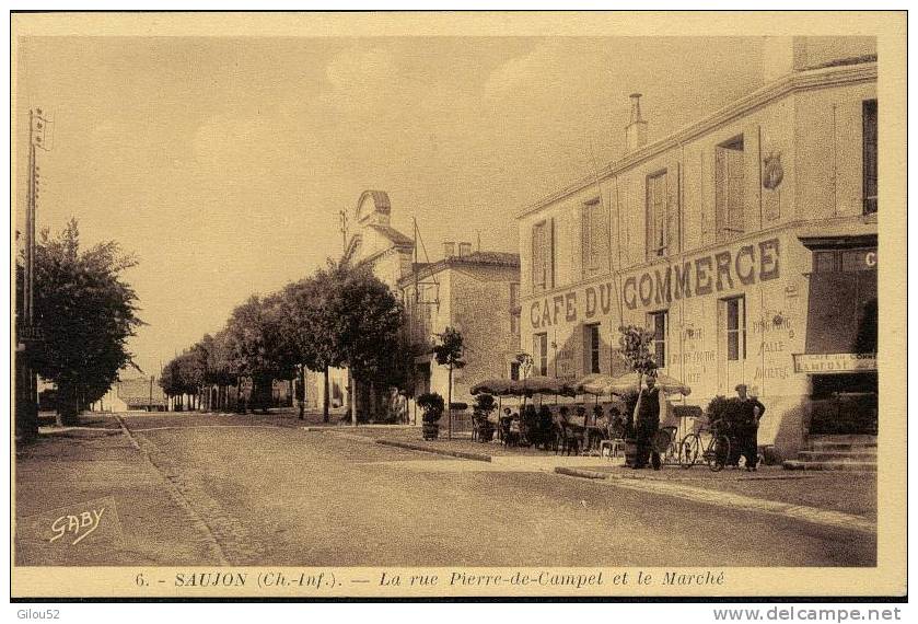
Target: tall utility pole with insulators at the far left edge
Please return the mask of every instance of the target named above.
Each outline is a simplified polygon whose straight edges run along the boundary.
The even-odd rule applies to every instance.
[[[23,440],[38,436],[38,377],[31,361],[39,338],[35,330],[35,212],[39,184],[35,148],[48,149],[47,124],[40,108],[28,111],[25,265],[22,270],[22,316],[16,320],[16,437]]]

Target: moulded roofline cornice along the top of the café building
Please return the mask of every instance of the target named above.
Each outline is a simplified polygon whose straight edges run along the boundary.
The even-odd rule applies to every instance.
[[[656,140],[640,148],[620,160],[613,162],[593,175],[584,175],[576,182],[543,197],[535,204],[523,208],[516,213],[516,219],[522,219],[533,212],[537,212],[551,204],[565,199],[584,188],[595,186],[609,177],[615,177],[629,169],[638,166],[643,162],[656,158],[661,153],[687,143],[701,135],[709,134],[725,126],[735,119],[753,113],[754,111],[788,95],[811,91],[814,89],[828,89],[845,84],[857,84],[859,82],[876,81],[876,62],[859,65],[828,67],[794,72],[758,89],[748,95],[732,102],[720,111],[704,117],[702,119],[685,126],[676,132]]]

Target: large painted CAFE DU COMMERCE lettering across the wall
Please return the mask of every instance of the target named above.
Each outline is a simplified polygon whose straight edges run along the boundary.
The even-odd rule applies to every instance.
[[[654,266],[621,282],[621,302],[628,310],[663,305],[673,300],[702,297],[737,286],[777,279],[781,275],[778,239],[741,245],[666,266]],[[537,299],[530,305],[533,328],[558,322],[574,323],[608,314],[614,303],[612,282],[595,284],[570,292]]]

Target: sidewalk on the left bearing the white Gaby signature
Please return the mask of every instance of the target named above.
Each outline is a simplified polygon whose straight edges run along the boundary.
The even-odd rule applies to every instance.
[[[15,524],[18,565],[219,563],[210,535],[117,421],[101,415],[79,427],[43,428],[18,449]]]

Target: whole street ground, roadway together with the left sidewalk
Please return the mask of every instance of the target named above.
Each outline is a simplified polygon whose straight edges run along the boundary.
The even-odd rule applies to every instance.
[[[875,534],[381,446],[346,428],[133,414],[121,417],[128,436],[115,418],[94,417],[101,418],[95,429],[80,431],[85,439],[43,440],[21,453],[16,518],[111,496],[120,542],[48,550],[20,531],[20,565],[762,567],[876,561]],[[51,454],[43,444],[72,452]]]

